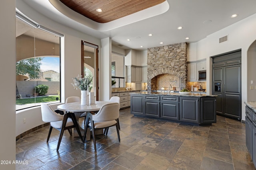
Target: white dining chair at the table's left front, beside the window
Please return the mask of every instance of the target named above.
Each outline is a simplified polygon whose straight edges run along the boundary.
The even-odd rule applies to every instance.
[[[74,125],[72,121],[73,119],[74,122],[76,122],[74,113],[73,115],[72,114],[60,115],[56,113],[49,105],[46,105],[46,104],[41,104],[41,112],[42,112],[42,121],[50,123],[50,130],[49,130],[46,142],[48,143],[50,139],[50,135],[52,133],[53,127],[60,131],[60,136],[59,136],[58,145],[56,149],[56,150],[59,150],[60,142],[61,142],[64,130],[67,129],[69,134],[72,135],[72,128],[75,127],[76,129],[79,129],[78,124],[76,123],[76,125]],[[69,116],[71,116],[71,118]],[[80,131],[79,131],[79,136],[82,140]]]

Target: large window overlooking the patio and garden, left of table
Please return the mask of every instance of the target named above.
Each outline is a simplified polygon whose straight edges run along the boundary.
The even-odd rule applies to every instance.
[[[42,30],[41,25],[28,25],[18,15],[16,110],[40,106],[42,102],[60,102],[60,37]]]

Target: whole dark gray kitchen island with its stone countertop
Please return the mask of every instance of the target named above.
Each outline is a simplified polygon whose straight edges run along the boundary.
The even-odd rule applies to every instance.
[[[189,124],[216,123],[216,95],[131,93],[131,114]]]

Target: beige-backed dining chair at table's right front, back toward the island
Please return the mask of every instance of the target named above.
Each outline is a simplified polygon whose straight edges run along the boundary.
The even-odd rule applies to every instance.
[[[108,103],[104,104],[97,114],[92,115],[92,113],[86,113],[86,125],[84,131],[84,140],[86,139],[87,129],[92,130],[92,138],[94,143],[94,150],[96,150],[96,141],[95,141],[95,130],[96,129],[105,129],[108,127],[116,126],[116,132],[118,136],[118,141],[120,142],[120,135],[118,129],[117,119],[119,117],[119,104],[118,103]]]

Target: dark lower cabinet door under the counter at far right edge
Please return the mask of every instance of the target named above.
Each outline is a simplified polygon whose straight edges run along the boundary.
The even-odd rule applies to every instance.
[[[245,136],[246,136],[246,147],[251,155],[252,158],[252,122],[245,117]]]

